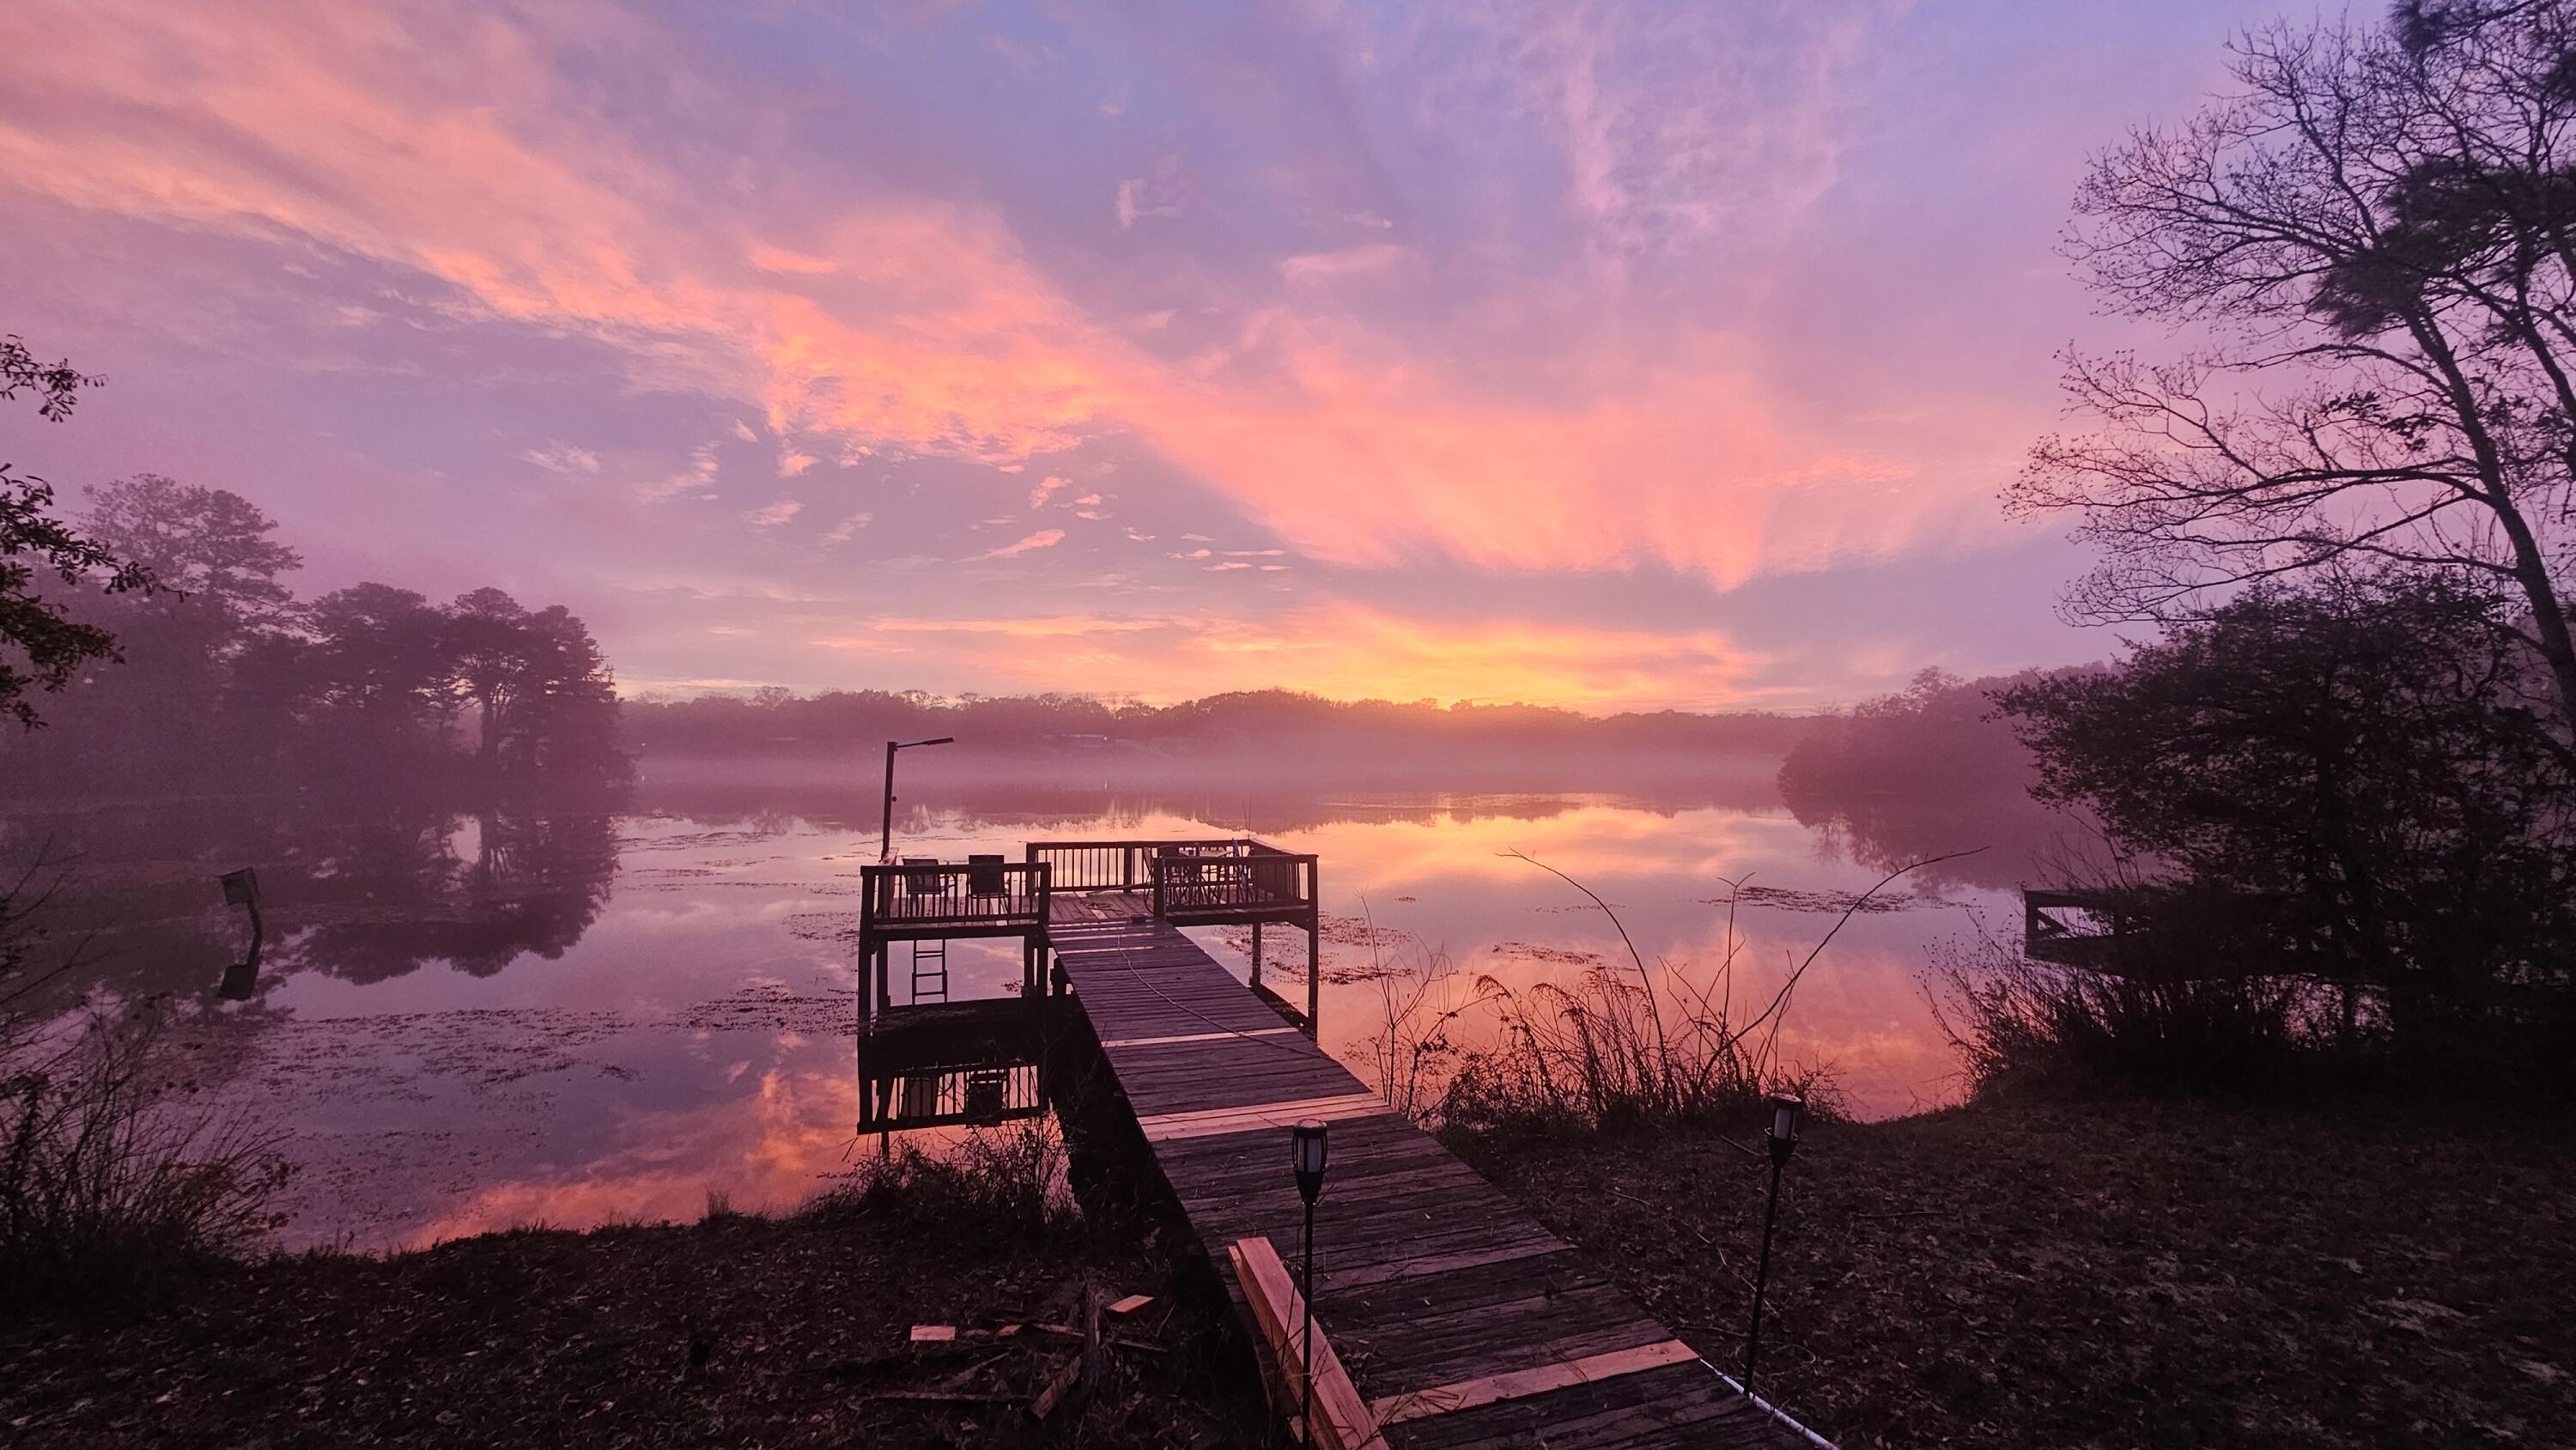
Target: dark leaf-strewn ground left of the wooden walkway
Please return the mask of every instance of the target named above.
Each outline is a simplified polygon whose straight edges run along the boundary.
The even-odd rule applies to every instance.
[[[1030,1404],[1082,1352],[1059,1329],[1079,1329],[1084,1283],[1154,1303],[1103,1316],[1105,1375],[1041,1422]],[[914,1324],[958,1339],[912,1344]],[[0,1324],[13,1450],[1265,1437],[1257,1383],[1133,1236],[920,1231],[860,1208],[304,1254]]]

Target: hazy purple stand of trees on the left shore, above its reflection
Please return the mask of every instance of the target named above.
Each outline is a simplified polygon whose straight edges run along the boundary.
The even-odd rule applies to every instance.
[[[613,783],[618,698],[590,628],[502,590],[363,582],[299,600],[301,556],[229,489],[139,474],[57,523],[0,742],[23,791]],[[28,579],[21,579],[28,585]]]

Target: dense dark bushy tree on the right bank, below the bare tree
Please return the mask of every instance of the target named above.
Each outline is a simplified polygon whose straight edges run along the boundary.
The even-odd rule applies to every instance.
[[[2563,1020],[2576,984],[2576,773],[2504,616],[2439,574],[2262,585],[2115,672],[1999,701],[2040,796],[2159,891],[2269,904],[2259,940],[2218,948],[2233,966],[2365,984],[2403,1038],[2463,1040]]]

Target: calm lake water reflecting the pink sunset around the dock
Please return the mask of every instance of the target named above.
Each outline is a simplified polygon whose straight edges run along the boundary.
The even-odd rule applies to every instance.
[[[1834,925],[1832,894],[1880,876],[1850,860],[1868,842],[1801,827],[1759,773],[1620,796],[907,796],[904,855],[1234,832],[1319,852],[1337,917],[1324,1043],[1345,1059],[1383,1020],[1373,963],[1528,986],[1618,953],[1597,909],[1504,852],[1582,878],[1649,963],[1698,976],[1723,953],[1721,878],[1749,878],[1739,999]],[[57,925],[100,927],[98,958],[52,1007],[173,994],[201,1092],[278,1125],[304,1164],[289,1239],[381,1249],[526,1221],[693,1218],[708,1192],[788,1205],[873,1154],[853,1138],[848,932],[876,811],[868,791],[647,780],[626,814],[206,804],[18,814],[5,832],[21,855],[39,840],[82,855]],[[2007,922],[2022,860],[1989,850],[1976,871],[1909,878],[1904,909],[1852,917],[1798,986],[1788,1053],[1829,1064],[1865,1115],[1955,1097],[1927,948],[1978,914]],[[270,940],[258,994],[219,1002],[247,930],[211,876],[240,863],[260,865]],[[1242,961],[1242,932],[1200,937]],[[1298,932],[1270,940],[1303,956]],[[956,997],[1010,992],[1018,948],[956,943],[951,979]]]

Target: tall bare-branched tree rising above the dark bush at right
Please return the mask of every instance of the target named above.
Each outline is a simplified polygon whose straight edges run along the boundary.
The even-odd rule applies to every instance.
[[[2519,592],[2566,737],[2576,646],[2576,0],[2409,0],[2249,31],[2233,85],[2094,157],[2066,255],[2182,355],[2066,353],[2074,412],[2007,489],[2076,510],[2081,621],[2409,567]]]

